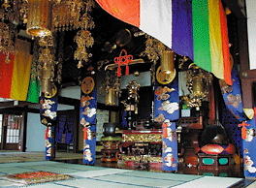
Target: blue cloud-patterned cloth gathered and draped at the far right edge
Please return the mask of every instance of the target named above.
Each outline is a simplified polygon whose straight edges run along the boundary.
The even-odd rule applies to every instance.
[[[240,148],[240,153],[242,154],[243,158],[243,173],[244,176],[256,176],[256,140],[254,138],[255,133],[255,120],[247,121],[249,127],[241,128],[239,125],[241,121],[247,120],[247,116],[243,111],[242,108],[242,101],[241,101],[241,91],[240,91],[240,79],[238,75],[238,71],[236,69],[237,66],[233,66],[232,70],[232,80],[233,85],[227,85],[224,81],[220,80],[220,87],[223,95],[223,99],[225,101],[226,107],[229,110],[226,111],[226,114],[223,113],[224,119],[224,127],[230,131],[231,138],[237,143],[238,147]],[[236,118],[234,118],[236,117]],[[241,138],[241,130],[247,129],[246,139],[242,140]]]

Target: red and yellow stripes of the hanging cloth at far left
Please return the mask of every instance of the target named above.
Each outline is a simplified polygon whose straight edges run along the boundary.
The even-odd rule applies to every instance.
[[[16,39],[16,54],[9,53],[10,61],[6,61],[7,54],[0,53],[0,97],[26,101],[32,55],[31,44]]]

